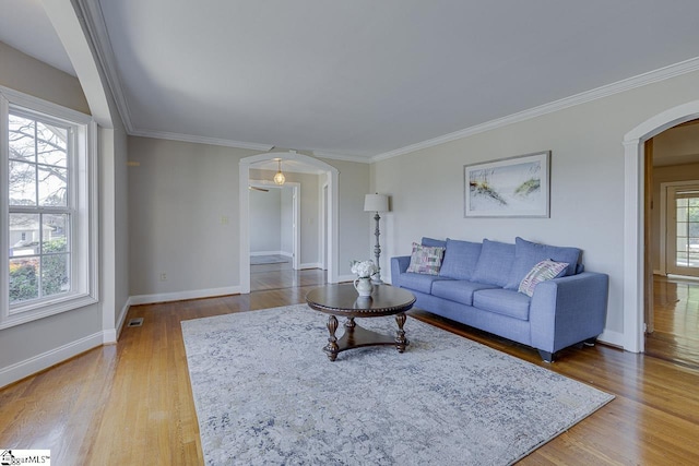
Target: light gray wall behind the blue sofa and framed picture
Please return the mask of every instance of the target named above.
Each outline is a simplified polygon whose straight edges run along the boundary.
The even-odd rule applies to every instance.
[[[649,118],[699,99],[698,82],[698,72],[684,74],[375,164],[374,188],[393,205],[384,215],[386,258],[410,254],[422,236],[576,246],[588,270],[609,274],[607,328],[623,332],[621,142]],[[547,150],[550,218],[464,218],[463,165]]]

